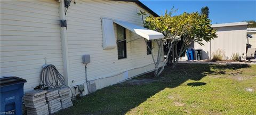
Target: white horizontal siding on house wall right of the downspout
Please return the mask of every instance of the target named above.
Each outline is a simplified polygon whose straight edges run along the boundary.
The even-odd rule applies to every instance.
[[[127,58],[118,60],[117,47],[103,50],[101,18],[123,20],[142,26],[141,17],[137,13],[143,10],[133,2],[116,1],[76,1],[67,12],[68,48],[70,63],[70,79],[85,79],[82,55],[90,54],[91,63],[87,64],[89,80],[114,76],[127,70],[143,67],[153,63],[151,55],[147,55],[144,39],[126,29]],[[114,24],[116,34],[116,24]],[[156,52],[155,52],[156,53]],[[129,71],[129,77],[152,70],[153,66]],[[97,89],[124,80],[124,75],[95,81]]]

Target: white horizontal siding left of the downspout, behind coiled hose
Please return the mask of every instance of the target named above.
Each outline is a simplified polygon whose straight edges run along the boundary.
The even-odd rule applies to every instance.
[[[1,1],[1,76],[26,79],[25,92],[39,85],[44,57],[63,73],[58,5]]]

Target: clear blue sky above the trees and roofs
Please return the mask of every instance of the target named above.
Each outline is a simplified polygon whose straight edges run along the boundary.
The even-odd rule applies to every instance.
[[[212,24],[241,22],[245,20],[256,20],[256,0],[254,1],[143,1],[158,15],[162,15],[165,10],[178,9],[174,15],[183,12],[200,12],[203,6],[209,7],[209,18]]]

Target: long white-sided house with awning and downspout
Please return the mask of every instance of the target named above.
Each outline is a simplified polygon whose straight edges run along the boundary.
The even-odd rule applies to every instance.
[[[137,13],[156,13],[139,1],[73,2],[67,9],[61,0],[1,1],[1,76],[26,79],[26,92],[39,85],[47,62],[57,67],[66,85],[82,84],[84,54],[91,56],[87,77],[96,89],[154,69],[144,38],[163,35],[142,28]],[[60,20],[67,27],[60,27]]]

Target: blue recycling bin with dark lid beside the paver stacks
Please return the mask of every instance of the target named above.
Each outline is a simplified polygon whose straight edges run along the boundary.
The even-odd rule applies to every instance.
[[[19,77],[0,78],[1,114],[22,114],[23,86],[26,79]]]

